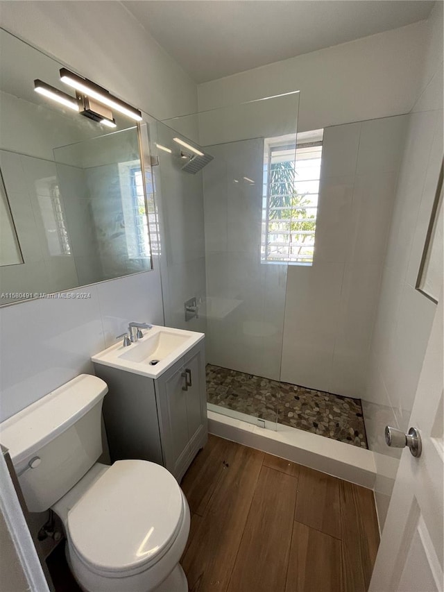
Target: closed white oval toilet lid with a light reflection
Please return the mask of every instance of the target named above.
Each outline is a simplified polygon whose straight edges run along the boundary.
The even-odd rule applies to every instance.
[[[180,528],[182,493],[166,468],[142,460],[115,462],[69,510],[77,554],[110,577],[148,568]]]

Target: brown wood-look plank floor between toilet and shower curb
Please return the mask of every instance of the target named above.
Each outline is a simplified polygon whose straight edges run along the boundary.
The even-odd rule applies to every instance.
[[[182,480],[190,592],[366,592],[373,492],[210,436]]]

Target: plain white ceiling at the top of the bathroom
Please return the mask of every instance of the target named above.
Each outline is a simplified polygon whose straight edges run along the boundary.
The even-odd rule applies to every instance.
[[[427,0],[124,1],[196,83],[427,19]]]

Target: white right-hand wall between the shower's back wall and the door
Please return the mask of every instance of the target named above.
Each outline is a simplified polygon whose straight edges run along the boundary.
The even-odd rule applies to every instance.
[[[436,306],[415,289],[443,158],[443,4],[427,22],[421,92],[409,115],[370,347],[363,407],[375,451],[375,500],[384,525],[397,457],[383,439],[385,425],[409,428]]]

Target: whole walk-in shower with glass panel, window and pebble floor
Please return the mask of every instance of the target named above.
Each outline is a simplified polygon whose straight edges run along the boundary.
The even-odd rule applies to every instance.
[[[361,393],[404,116],[298,132],[298,102],[151,124],[165,323],[205,332],[212,412],[367,448]]]

